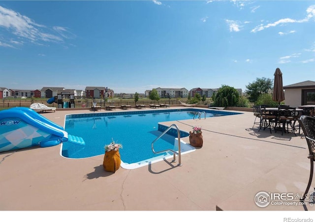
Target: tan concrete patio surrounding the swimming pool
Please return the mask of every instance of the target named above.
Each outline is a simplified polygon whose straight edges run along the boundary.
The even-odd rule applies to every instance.
[[[60,145],[2,152],[0,210],[314,210],[310,204],[255,204],[259,191],[303,194],[310,172],[307,143],[303,134],[258,132],[252,112],[236,112],[243,114],[164,122],[187,132],[192,126],[202,127],[203,147],[182,155],[183,166],[167,159],[133,170],[120,168],[114,174],[104,171],[103,155],[67,159],[60,156]],[[69,113],[91,111],[42,115],[63,126]],[[188,137],[182,140],[189,143]],[[313,181],[310,191],[314,185]]]

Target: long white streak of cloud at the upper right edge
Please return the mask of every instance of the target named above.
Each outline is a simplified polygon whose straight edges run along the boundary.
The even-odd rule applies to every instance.
[[[311,5],[306,9],[307,12],[307,16],[304,19],[301,20],[295,20],[295,19],[291,19],[291,18],[284,18],[284,19],[280,19],[274,23],[269,23],[267,25],[263,25],[260,24],[259,26],[256,26],[254,29],[252,29],[252,33],[255,32],[260,32],[264,29],[270,28],[270,27],[275,27],[278,25],[282,25],[285,23],[303,23],[303,22],[308,22],[311,18],[315,17],[315,5]]]

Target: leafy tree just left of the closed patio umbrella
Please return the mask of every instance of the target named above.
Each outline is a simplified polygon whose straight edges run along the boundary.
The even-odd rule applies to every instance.
[[[272,80],[270,78],[262,77],[256,78],[256,81],[249,83],[245,91],[249,95],[250,102],[256,102],[261,94],[268,93],[272,88]]]

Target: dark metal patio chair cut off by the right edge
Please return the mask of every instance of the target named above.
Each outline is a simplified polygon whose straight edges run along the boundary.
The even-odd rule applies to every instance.
[[[309,183],[306,187],[304,195],[300,200],[305,200],[306,195],[309,192],[311,187],[312,179],[313,179],[313,172],[314,172],[314,160],[315,160],[315,117],[302,115],[299,119],[299,123],[302,127],[303,133],[306,138],[306,142],[309,148],[309,156],[308,158],[311,161],[311,170],[310,170],[310,178]]]

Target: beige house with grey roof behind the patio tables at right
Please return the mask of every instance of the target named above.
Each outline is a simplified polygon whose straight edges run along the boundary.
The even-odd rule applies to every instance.
[[[298,82],[284,86],[285,105],[298,107],[315,105],[315,81]]]

